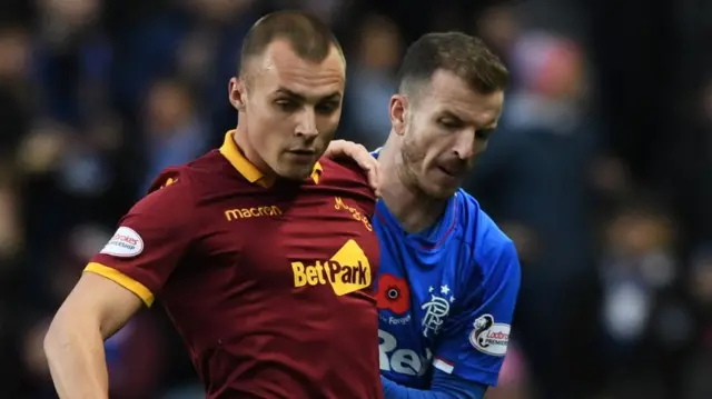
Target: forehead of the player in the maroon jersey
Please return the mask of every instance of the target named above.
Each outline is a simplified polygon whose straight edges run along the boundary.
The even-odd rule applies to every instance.
[[[265,90],[285,88],[305,97],[344,91],[346,66],[336,47],[322,62],[312,62],[300,58],[288,41],[275,40],[255,61],[255,81]]]

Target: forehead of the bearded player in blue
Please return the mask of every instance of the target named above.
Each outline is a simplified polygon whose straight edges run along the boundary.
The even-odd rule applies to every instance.
[[[433,73],[427,91],[422,101],[432,112],[451,112],[478,124],[496,122],[504,104],[503,91],[482,94],[461,77],[444,70]]]

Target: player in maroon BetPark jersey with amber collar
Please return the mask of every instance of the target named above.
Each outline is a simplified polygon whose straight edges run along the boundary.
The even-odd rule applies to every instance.
[[[208,399],[382,398],[375,196],[319,161],[345,61],[300,12],[245,38],[219,150],[165,170],[87,266],[44,340],[61,398],[108,398],[102,341],[160,299]]]

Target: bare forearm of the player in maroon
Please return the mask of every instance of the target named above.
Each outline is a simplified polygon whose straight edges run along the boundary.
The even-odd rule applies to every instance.
[[[60,399],[108,399],[109,376],[98,325],[56,318],[44,353]]]

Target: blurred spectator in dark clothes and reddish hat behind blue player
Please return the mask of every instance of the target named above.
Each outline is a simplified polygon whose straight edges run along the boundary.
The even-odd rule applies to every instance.
[[[584,386],[576,376],[592,375],[592,365],[567,353],[590,331],[577,315],[595,306],[593,169],[601,127],[591,117],[580,44],[525,31],[512,51],[515,84],[469,189],[517,246],[524,269],[517,325],[542,395],[570,398]]]

